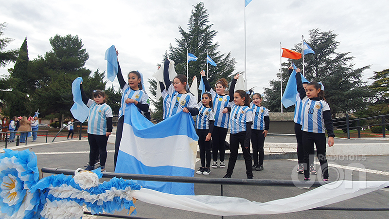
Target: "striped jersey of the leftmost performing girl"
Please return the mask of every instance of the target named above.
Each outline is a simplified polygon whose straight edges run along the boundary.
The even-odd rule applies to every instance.
[[[88,115],[88,133],[92,135],[106,134],[106,118],[113,117],[112,109],[108,105],[97,104],[89,99],[87,107],[89,108]]]

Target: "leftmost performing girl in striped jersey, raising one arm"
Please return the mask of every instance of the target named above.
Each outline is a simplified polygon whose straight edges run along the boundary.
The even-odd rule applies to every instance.
[[[112,131],[112,109],[106,105],[106,94],[104,91],[95,91],[93,100],[89,99],[80,84],[82,102],[89,108],[88,115],[88,142],[89,142],[89,164],[85,170],[93,170],[97,153],[100,154],[100,167],[102,172],[106,171],[106,143]],[[93,165],[90,165],[93,164]]]

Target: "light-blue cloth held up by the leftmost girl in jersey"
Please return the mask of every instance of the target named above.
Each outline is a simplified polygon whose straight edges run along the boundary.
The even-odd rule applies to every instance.
[[[83,123],[88,118],[89,108],[84,104],[84,102],[82,102],[80,89],[81,82],[82,77],[77,77],[74,79],[73,83],[71,83],[71,92],[73,93],[74,104],[70,111],[75,119]]]

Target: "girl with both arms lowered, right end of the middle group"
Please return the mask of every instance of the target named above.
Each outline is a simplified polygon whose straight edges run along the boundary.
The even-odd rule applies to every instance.
[[[252,102],[250,103],[253,120],[251,126],[251,144],[254,157],[252,169],[257,171],[264,169],[264,143],[270,124],[269,111],[261,106],[261,102],[261,94],[254,93],[252,95]]]

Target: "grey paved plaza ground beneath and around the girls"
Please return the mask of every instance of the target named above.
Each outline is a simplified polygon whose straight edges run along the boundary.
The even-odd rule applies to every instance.
[[[274,142],[292,142],[294,136],[273,136],[267,137],[266,142],[274,140]],[[280,139],[281,137],[281,139]],[[43,138],[43,137],[42,137]],[[38,138],[38,143],[28,143],[28,146],[18,146],[12,149],[30,149],[35,152],[38,158],[38,167],[53,167],[64,169],[77,169],[84,167],[88,162],[89,146],[87,139],[79,140],[64,140],[65,138],[57,138],[53,144],[43,144],[44,140]],[[349,141],[339,139],[340,141]],[[350,140],[351,141],[351,140]],[[354,140],[364,141],[364,140]],[[375,141],[375,140],[374,140]],[[381,140],[376,140],[381,141]],[[0,148],[4,148],[0,145]],[[106,170],[113,172],[113,151],[114,145],[108,144],[108,158]],[[349,156],[349,157],[335,157],[330,160],[330,180],[337,180],[339,178],[359,179],[359,174],[366,174],[367,180],[389,180],[389,156]],[[352,174],[346,174],[346,169],[355,169],[354,166],[364,165],[366,169],[363,172],[354,171]],[[265,160],[263,171],[255,171],[254,179],[278,179],[291,180],[292,176],[302,179],[301,174],[294,171],[297,162],[290,160]],[[196,168],[199,167],[199,162],[196,163]],[[318,167],[318,166],[317,166]],[[246,170],[243,160],[238,160],[232,178],[246,179]],[[226,169],[212,169],[209,176],[195,175],[195,177],[202,178],[221,178],[225,175]],[[340,173],[340,174],[339,174]],[[45,175],[47,176],[47,174]],[[314,178],[314,177],[312,177]],[[306,192],[306,190],[297,187],[275,187],[275,186],[238,186],[238,185],[224,185],[224,195],[231,197],[241,197],[250,201],[266,202],[287,197],[292,197]],[[196,195],[220,195],[220,185],[206,185],[195,184]],[[342,201],[336,204],[329,205],[330,207],[389,207],[388,204],[389,191],[378,190],[370,194],[366,194],[352,200]],[[207,214],[193,213],[182,210],[170,209],[160,206],[147,204],[137,201],[137,217],[142,218],[204,218],[217,219],[219,216],[212,216]],[[117,215],[126,215],[126,212],[118,212]],[[107,218],[97,216],[85,216],[84,218]],[[388,211],[326,211],[326,210],[308,210],[296,213],[269,215],[269,216],[236,216],[224,217],[226,219],[257,219],[257,218],[279,218],[279,219],[300,219],[300,218],[388,218]]]

